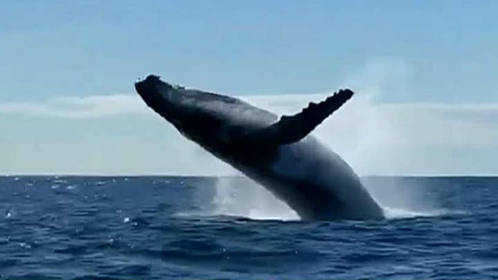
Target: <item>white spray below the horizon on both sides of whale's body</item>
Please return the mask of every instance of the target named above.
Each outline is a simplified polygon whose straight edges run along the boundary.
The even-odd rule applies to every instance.
[[[372,182],[369,178],[362,179],[388,219],[464,214],[458,209],[445,209],[437,205],[436,197],[432,192],[426,191],[421,181],[408,185],[396,178],[389,184],[386,184],[386,178],[383,178],[382,183]],[[214,187],[214,209],[210,214],[241,216],[253,220],[299,220],[291,207],[248,178],[219,177]]]

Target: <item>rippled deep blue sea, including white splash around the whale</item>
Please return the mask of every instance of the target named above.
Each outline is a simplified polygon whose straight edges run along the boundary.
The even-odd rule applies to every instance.
[[[302,222],[243,178],[0,177],[0,279],[498,279],[498,178],[366,177]]]

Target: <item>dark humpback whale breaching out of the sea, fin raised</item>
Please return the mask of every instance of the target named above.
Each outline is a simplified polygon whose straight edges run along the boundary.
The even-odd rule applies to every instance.
[[[353,91],[342,89],[278,118],[237,98],[168,84],[156,75],[135,88],[183,136],[284,200],[302,220],[384,217],[347,162],[309,134]]]

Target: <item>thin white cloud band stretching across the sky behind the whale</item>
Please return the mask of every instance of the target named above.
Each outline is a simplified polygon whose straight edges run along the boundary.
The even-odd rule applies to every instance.
[[[308,102],[320,102],[330,94],[246,95],[239,98],[277,113],[294,113],[307,106]],[[362,104],[361,109],[369,106],[391,113],[417,114],[416,118],[430,116],[430,118],[450,118],[465,122],[495,122],[498,119],[498,104],[377,103],[370,100],[369,96],[371,95],[362,92],[349,104]],[[4,102],[0,103],[0,113],[59,118],[100,118],[111,115],[149,114],[151,111],[138,95],[115,94],[58,97],[40,102]]]

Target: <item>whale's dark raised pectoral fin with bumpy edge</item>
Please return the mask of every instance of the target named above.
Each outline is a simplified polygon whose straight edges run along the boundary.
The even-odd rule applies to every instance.
[[[250,138],[251,141],[266,144],[291,144],[297,142],[306,137],[308,133],[311,133],[318,124],[321,124],[352,96],[353,91],[349,89],[340,90],[318,104],[310,102],[305,109],[295,115],[283,115],[275,124],[253,131],[246,137]]]

